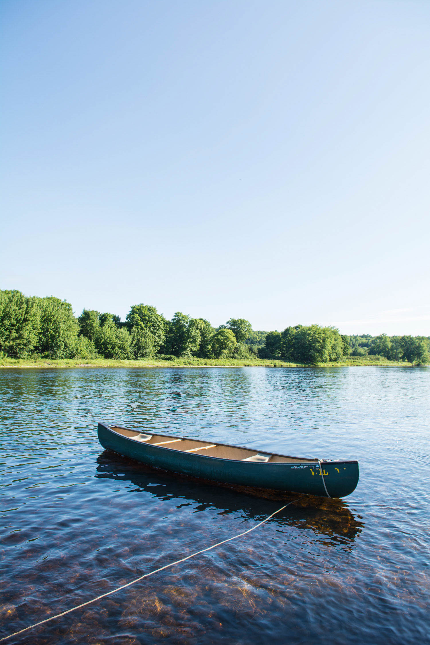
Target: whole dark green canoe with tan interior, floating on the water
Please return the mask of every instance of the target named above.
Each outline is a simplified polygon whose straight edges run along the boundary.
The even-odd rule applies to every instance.
[[[346,497],[358,483],[357,461],[291,457],[99,422],[103,448],[148,466],[239,486],[320,497]]]

